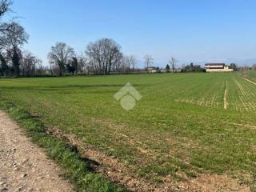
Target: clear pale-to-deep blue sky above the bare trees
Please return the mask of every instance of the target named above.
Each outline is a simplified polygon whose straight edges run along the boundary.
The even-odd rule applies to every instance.
[[[124,53],[151,54],[164,66],[170,56],[179,64],[256,58],[255,7],[254,0],[14,0],[12,9],[30,34],[26,49],[45,65],[55,42],[80,53],[114,38]]]

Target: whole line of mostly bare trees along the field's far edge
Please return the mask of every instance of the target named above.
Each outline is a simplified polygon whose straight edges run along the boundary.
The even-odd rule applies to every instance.
[[[57,42],[48,54],[50,66],[42,66],[42,60],[28,50],[23,50],[29,40],[25,29],[11,20],[2,22],[3,16],[10,12],[11,0],[0,0],[0,75],[2,77],[32,77],[40,75],[63,76],[72,74],[128,74],[150,72],[204,72],[194,63],[177,69],[178,60],[170,58],[165,69],[154,67],[154,58],[146,54],[145,68],[137,67],[134,55],[122,53],[122,47],[111,38],[90,42],[86,50],[76,54],[65,42]],[[235,66],[236,67],[236,66]],[[255,67],[256,68],[256,67]]]

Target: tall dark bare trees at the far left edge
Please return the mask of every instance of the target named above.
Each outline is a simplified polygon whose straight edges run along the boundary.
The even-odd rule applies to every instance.
[[[22,50],[29,35],[25,29],[14,22],[1,22],[10,11],[11,0],[0,1],[0,72],[2,76],[32,76],[42,61],[29,51]]]

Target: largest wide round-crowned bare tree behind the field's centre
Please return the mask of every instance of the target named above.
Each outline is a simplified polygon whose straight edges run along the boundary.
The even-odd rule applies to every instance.
[[[90,42],[86,54],[90,64],[96,73],[110,74],[111,70],[122,59],[121,46],[110,38],[102,38],[96,42]]]

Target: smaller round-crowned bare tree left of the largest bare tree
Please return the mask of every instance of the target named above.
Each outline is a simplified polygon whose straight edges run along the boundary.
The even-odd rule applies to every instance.
[[[48,58],[51,65],[58,66],[58,74],[62,76],[65,67],[74,56],[74,49],[67,46],[65,42],[57,42],[55,46],[51,47]]]

